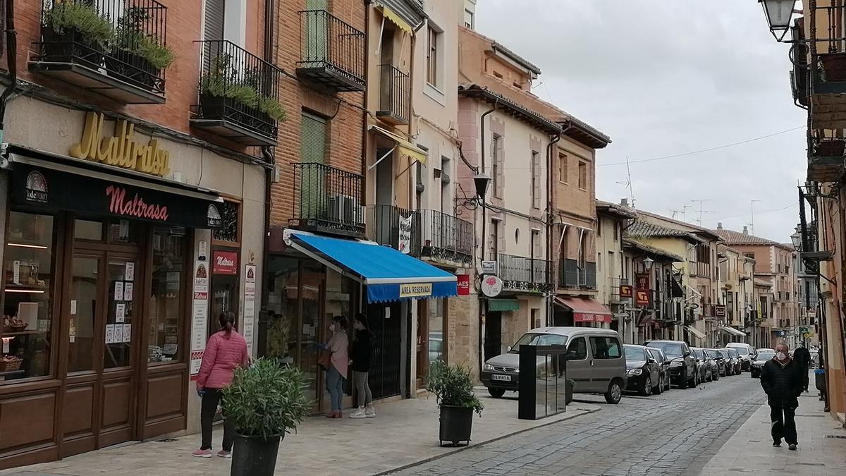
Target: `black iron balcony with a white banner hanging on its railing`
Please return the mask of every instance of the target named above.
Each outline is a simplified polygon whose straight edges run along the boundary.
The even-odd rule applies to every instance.
[[[420,213],[393,205],[367,207],[367,237],[380,245],[420,256]]]

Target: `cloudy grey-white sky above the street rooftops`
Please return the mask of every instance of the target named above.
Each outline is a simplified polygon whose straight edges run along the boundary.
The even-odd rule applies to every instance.
[[[694,224],[704,200],[702,224],[731,230],[752,224],[756,200],[755,235],[790,242],[806,113],[757,1],[479,0],[476,30],[541,69],[538,97],[611,136],[596,154],[598,199],[634,195]]]

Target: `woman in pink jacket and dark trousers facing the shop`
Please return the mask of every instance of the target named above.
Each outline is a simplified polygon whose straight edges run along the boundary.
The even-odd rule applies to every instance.
[[[191,453],[192,456],[211,457],[211,423],[217,412],[217,404],[223,396],[222,389],[232,383],[235,369],[250,364],[247,354],[247,341],[235,331],[235,314],[222,313],[218,319],[220,330],[209,337],[206,351],[203,352],[203,363],[197,376],[197,394],[202,398],[200,410],[200,424],[203,442],[200,449]],[[224,415],[225,417],[225,415]],[[231,458],[232,444],[235,440],[235,429],[228,420],[223,421],[223,448],[217,452],[218,457]]]

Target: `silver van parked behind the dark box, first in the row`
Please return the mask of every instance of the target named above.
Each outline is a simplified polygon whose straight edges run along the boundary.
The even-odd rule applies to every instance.
[[[488,393],[500,397],[519,388],[520,346],[567,346],[567,377],[574,393],[595,393],[617,404],[626,386],[626,357],[617,331],[590,327],[539,327],[531,329],[508,347],[508,352],[489,358],[481,372]]]

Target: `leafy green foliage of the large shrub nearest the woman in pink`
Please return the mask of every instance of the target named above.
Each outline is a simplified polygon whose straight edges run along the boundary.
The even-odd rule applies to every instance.
[[[232,385],[223,389],[223,415],[244,436],[267,440],[290,433],[311,407],[305,387],[299,368],[259,358],[249,368],[235,370]]]

